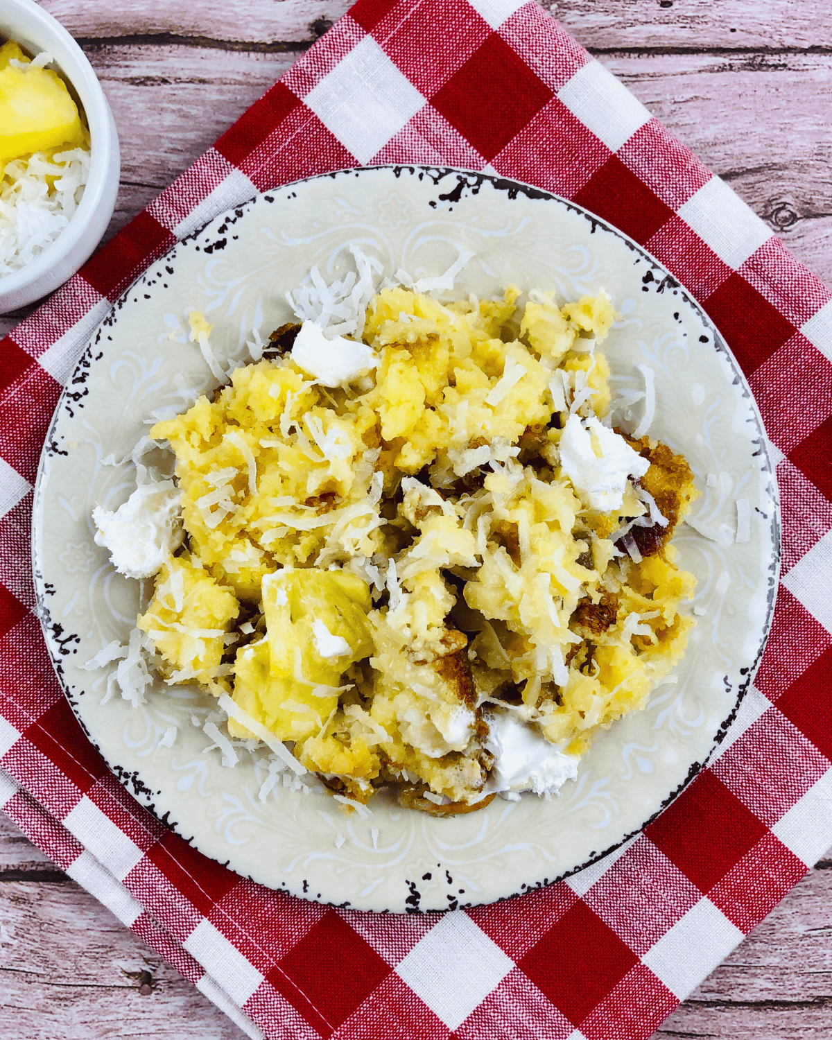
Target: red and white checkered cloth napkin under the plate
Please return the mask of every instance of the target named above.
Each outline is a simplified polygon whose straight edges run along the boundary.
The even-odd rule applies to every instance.
[[[720,757],[617,854],[522,899],[445,915],[295,900],[165,830],[82,735],[29,577],[42,442],[111,302],[255,191],[389,162],[530,182],[658,257],[745,369],[782,494],[774,628]],[[830,297],[534,2],[359,0],[0,345],[0,804],[251,1036],[649,1037],[832,844]]]

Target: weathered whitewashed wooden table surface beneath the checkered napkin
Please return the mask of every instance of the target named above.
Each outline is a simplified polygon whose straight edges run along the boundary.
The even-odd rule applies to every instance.
[[[79,40],[115,115],[122,186],[111,235],[349,3],[43,6]],[[551,9],[832,286],[829,0],[564,0]],[[0,336],[26,313],[0,317]],[[654,1040],[831,1037],[831,918],[832,850]],[[0,813],[0,1037],[242,1034]]]

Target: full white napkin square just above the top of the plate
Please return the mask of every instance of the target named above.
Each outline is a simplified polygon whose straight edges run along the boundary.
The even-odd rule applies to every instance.
[[[422,108],[424,98],[372,36],[365,36],[304,103],[364,163]]]

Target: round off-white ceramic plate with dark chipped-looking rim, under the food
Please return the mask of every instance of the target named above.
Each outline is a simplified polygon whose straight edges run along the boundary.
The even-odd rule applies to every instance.
[[[604,287],[623,318],[604,344],[617,388],[655,371],[651,434],[683,451],[703,492],[682,526],[680,564],[699,579],[698,617],[678,683],[602,734],[578,778],[550,801],[495,800],[451,820],[384,794],[344,814],[322,788],[283,786],[263,802],[257,756],[222,764],[190,724],[205,701],[159,683],[133,709],[101,705],[106,669],[80,666],[135,622],[138,582],[94,542],[93,508],[133,487],[129,456],[151,413],[179,411],[215,380],[188,342],[186,314],[214,324],[220,356],[291,318],[285,291],[313,264],[331,279],[358,242],[388,272],[439,274],[475,258],[456,295],[510,283],[573,300]],[[708,479],[708,474],[713,474]],[[751,537],[736,543],[736,500]],[[37,480],[33,560],[50,653],[72,706],[110,768],[207,856],[295,895],[366,910],[441,910],[547,884],[638,832],[711,756],[762,650],[778,568],[777,494],[762,425],[736,363],[698,305],[632,241],[543,191],[478,174],[420,167],[346,171],[259,196],[181,242],[119,301],[57,407]],[[160,745],[177,727],[172,747]],[[314,785],[316,781],[312,781]]]

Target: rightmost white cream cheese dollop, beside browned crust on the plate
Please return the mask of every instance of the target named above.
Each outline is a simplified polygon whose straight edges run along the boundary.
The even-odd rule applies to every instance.
[[[649,459],[594,415],[588,419],[570,415],[557,447],[561,467],[580,500],[602,513],[620,508],[628,476],[644,476],[650,468]]]

